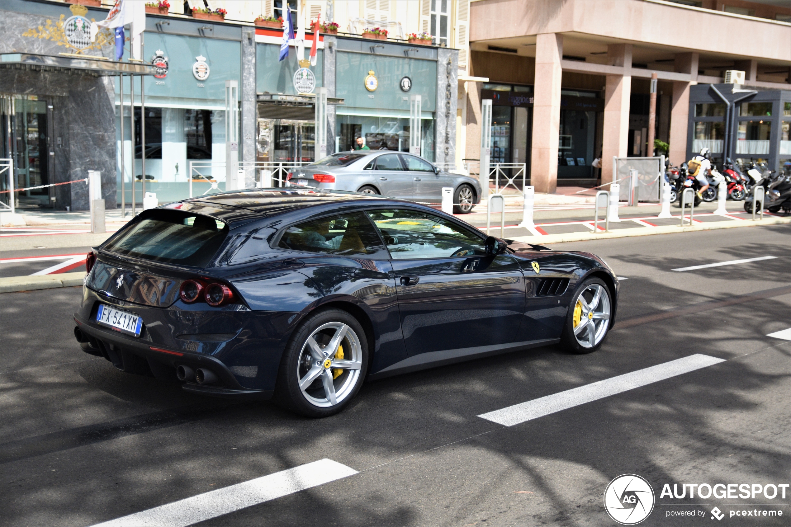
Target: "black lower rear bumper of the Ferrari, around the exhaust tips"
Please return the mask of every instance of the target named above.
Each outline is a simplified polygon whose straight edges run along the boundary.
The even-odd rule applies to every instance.
[[[82,318],[79,314],[74,314],[74,322],[77,322],[81,332],[89,337],[90,344],[98,348],[101,355],[121,371],[137,374],[151,371],[154,377],[165,380],[168,375],[172,375],[172,379],[176,380],[175,368],[180,365],[191,367],[193,370],[206,368],[218,376],[220,381],[217,384],[185,382],[182,388],[188,392],[212,397],[262,401],[271,399],[274,393],[274,390],[252,390],[241,386],[225,363],[214,356],[188,352],[184,349],[152,346],[146,341],[97,326],[93,321]]]

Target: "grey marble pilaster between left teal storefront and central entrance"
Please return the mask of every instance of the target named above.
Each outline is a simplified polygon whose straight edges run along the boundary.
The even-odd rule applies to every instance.
[[[239,137],[240,159],[252,162],[255,161],[255,129],[258,124],[255,89],[255,29],[253,28],[242,28],[242,70],[239,94],[242,103],[241,137]],[[254,187],[257,178],[255,170],[246,169],[244,171],[244,187]]]

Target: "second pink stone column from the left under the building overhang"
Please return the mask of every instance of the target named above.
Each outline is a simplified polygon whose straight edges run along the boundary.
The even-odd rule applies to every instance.
[[[611,66],[622,66],[623,75],[607,75],[604,88],[604,133],[601,147],[601,183],[611,183],[612,158],[626,157],[629,144],[629,100],[632,92],[632,45],[610,44]],[[617,178],[616,178],[617,179]]]

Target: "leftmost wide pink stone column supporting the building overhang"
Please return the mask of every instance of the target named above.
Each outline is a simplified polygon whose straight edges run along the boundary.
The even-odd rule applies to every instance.
[[[560,84],[563,36],[541,33],[536,38],[536,92],[533,96],[530,184],[536,192],[554,193],[558,185]]]

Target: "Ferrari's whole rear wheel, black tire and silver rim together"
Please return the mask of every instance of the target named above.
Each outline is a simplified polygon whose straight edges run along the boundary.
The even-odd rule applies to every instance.
[[[293,412],[331,416],[358,392],[367,363],[365,331],[357,319],[339,309],[320,311],[294,332],[274,397]]]

